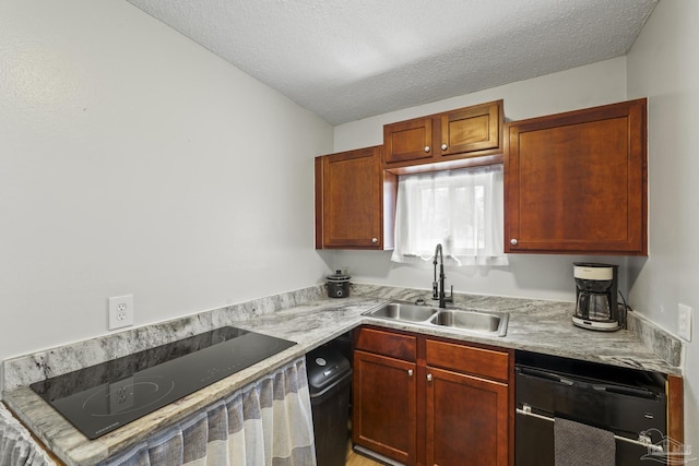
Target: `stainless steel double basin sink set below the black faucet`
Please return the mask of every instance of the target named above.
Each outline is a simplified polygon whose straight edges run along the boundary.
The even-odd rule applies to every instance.
[[[457,308],[442,309],[396,301],[367,311],[364,315],[493,336],[505,336],[507,334],[507,324],[510,318],[507,312],[483,312]]]

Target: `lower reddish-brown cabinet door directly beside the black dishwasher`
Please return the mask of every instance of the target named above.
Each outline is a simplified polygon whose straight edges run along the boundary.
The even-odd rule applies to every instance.
[[[508,385],[431,367],[427,379],[427,464],[508,465]]]

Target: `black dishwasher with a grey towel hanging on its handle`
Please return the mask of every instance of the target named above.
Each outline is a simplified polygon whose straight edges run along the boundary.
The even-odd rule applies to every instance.
[[[602,432],[611,439],[611,464],[664,463],[666,398],[662,374],[525,351],[518,351],[514,371],[516,466],[554,466],[556,455],[576,454],[560,450],[565,434],[557,429],[562,426],[580,429],[572,432],[572,443],[566,446],[572,444],[573,449],[568,450],[594,453],[604,442],[584,435]],[[574,435],[580,431],[577,445]]]

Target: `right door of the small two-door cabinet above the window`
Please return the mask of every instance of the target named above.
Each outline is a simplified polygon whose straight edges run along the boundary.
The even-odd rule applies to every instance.
[[[437,150],[441,156],[497,150],[501,145],[501,100],[442,113],[439,120]]]

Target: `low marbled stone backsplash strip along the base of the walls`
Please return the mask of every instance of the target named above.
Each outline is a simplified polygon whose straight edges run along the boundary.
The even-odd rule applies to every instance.
[[[352,284],[351,296],[415,300],[429,290]],[[107,360],[208,332],[235,322],[265,315],[282,309],[327,297],[324,284],[238,304],[226,306],[158,324],[130,328],[71,345],[24,355],[3,361],[4,390],[11,391]],[[459,302],[477,307],[485,297],[461,295]],[[491,297],[487,297],[491,300]],[[517,298],[500,298],[502,304],[517,306]],[[506,302],[507,301],[507,302]],[[512,302],[509,302],[512,301]],[[682,367],[680,339],[635,312],[628,313],[628,328],[657,357],[673,367]]]

